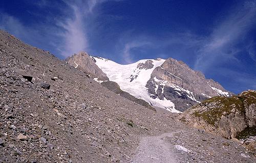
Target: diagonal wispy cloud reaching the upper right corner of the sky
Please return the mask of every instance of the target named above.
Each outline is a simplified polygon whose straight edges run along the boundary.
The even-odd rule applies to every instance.
[[[212,64],[237,61],[240,52],[237,44],[244,41],[251,27],[256,24],[256,3],[246,2],[231,10],[224,20],[219,22],[211,35],[198,50],[195,68],[206,71]]]

